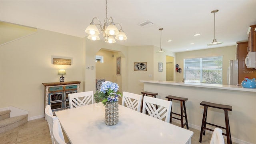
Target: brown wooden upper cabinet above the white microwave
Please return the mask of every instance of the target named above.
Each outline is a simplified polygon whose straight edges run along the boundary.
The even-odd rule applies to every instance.
[[[256,52],[256,24],[248,28],[248,52]]]

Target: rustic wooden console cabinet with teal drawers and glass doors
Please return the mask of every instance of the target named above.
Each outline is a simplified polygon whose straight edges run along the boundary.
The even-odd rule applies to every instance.
[[[50,105],[52,112],[69,108],[68,94],[79,92],[80,83],[80,81],[43,83],[44,108]]]

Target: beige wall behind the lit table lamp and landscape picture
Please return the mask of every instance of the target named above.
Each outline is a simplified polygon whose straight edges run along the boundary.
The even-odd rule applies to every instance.
[[[66,69],[65,81],[84,81],[83,41],[84,38],[38,29],[35,34],[2,45],[0,107],[10,105],[27,110],[30,118],[43,116],[42,83],[59,82],[59,68]],[[72,58],[72,65],[53,65],[52,56]]]

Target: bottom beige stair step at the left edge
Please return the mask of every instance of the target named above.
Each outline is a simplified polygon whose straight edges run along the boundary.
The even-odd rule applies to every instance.
[[[16,128],[28,121],[28,114],[0,120],[0,133]]]

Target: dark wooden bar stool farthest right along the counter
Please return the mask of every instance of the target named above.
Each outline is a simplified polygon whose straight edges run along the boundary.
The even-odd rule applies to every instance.
[[[218,128],[222,128],[226,130],[226,134],[222,133],[224,136],[227,136],[227,142],[228,144],[232,144],[231,141],[231,134],[230,134],[230,125],[229,125],[229,120],[228,120],[228,110],[232,111],[232,106],[228,106],[228,105],[223,105],[223,104],[215,104],[215,103],[211,103],[211,102],[204,102],[202,101],[200,103],[201,106],[204,106],[204,114],[203,114],[203,119],[202,119],[202,126],[201,126],[201,132],[200,132],[200,139],[199,142],[202,142],[202,136],[203,134],[205,135],[205,131],[206,130],[210,130],[213,132],[212,129],[210,128],[206,128],[206,124],[209,124],[211,126],[216,126]],[[216,124],[211,124],[206,122],[206,118],[207,118],[207,109],[208,107],[212,107],[212,108],[218,108],[218,109],[222,109],[224,110],[225,113],[225,123],[226,123],[226,128],[222,127],[222,126],[217,126]]]

